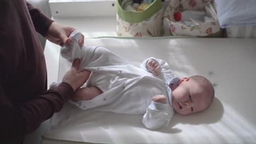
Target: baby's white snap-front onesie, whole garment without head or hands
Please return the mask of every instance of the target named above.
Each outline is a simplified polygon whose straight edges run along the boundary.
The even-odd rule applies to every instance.
[[[104,47],[83,46],[79,49],[80,33],[75,31],[69,37],[71,44],[61,49],[62,57],[70,62],[81,60],[80,70],[92,71],[86,87],[95,86],[103,92],[91,100],[69,101],[80,109],[111,111],[115,113],[144,114],[143,124],[150,129],[167,126],[174,110],[171,107],[170,83],[179,79],[174,77],[168,64],[156,58],[160,65],[158,76],[147,70],[146,59],[137,68]],[[163,94],[167,104],[154,103],[152,97]]]

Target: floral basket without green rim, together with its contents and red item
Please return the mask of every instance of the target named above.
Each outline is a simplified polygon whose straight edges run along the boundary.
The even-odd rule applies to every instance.
[[[222,37],[211,0],[172,0],[164,17],[172,35]]]

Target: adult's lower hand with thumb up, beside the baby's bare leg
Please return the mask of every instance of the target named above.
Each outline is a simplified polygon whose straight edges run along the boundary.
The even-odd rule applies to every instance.
[[[91,73],[89,70],[78,71],[79,65],[80,60],[74,59],[71,69],[67,71],[62,79],[62,82],[69,83],[74,91],[77,91],[88,80]]]

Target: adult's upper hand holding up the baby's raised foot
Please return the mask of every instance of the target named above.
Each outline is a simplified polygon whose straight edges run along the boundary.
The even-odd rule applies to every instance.
[[[54,44],[63,46],[63,44],[69,44],[71,39],[69,35],[75,30],[72,27],[65,27],[59,23],[53,22],[49,26],[48,32],[45,35],[45,38],[51,41]],[[81,35],[80,40],[78,41],[79,46],[81,47],[84,44],[84,35]]]

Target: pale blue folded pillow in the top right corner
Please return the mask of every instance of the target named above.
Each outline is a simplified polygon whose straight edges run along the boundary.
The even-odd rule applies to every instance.
[[[220,27],[256,25],[255,0],[215,0]]]

